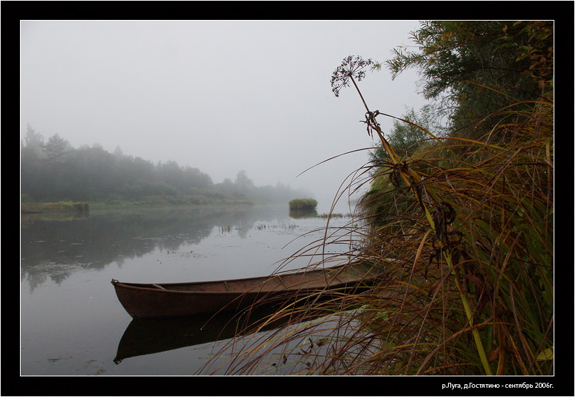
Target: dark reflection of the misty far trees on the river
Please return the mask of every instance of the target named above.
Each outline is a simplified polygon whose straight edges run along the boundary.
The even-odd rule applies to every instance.
[[[31,290],[47,280],[60,284],[78,270],[119,266],[153,250],[176,251],[199,243],[214,228],[247,230],[277,216],[277,208],[148,208],[91,211],[89,215],[23,216],[21,218],[21,280]],[[285,208],[282,210],[285,212]],[[280,211],[281,212],[281,211]]]

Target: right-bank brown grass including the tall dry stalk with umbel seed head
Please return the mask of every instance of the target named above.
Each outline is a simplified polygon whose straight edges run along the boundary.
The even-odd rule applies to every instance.
[[[359,92],[357,68],[349,70],[346,82]],[[287,302],[269,320],[289,325],[265,340],[254,334],[255,343],[234,354],[231,372],[276,373],[308,341],[316,349],[286,372],[553,375],[552,92],[447,137],[424,130],[425,145],[404,157],[377,122],[391,116],[361,99],[368,132],[389,162],[351,174],[348,191],[369,189],[356,216],[296,255],[325,252],[337,234],[331,243],[350,250],[310,267],[347,258],[383,266],[385,276],[361,294],[297,309]],[[328,314],[309,321],[318,311]]]

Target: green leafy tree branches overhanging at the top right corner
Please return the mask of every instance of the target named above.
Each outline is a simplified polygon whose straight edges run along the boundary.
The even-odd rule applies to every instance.
[[[442,100],[455,130],[549,90],[553,29],[553,21],[425,21],[411,37],[418,51],[395,48],[386,63],[393,78],[417,68],[424,97]]]

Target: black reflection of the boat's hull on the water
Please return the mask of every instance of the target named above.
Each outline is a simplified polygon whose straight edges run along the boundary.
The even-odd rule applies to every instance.
[[[120,339],[114,362],[120,364],[123,359],[130,357],[276,329],[289,321],[284,318],[265,323],[269,321],[272,314],[274,314],[272,309],[258,309],[242,314],[221,313],[195,317],[133,319]]]

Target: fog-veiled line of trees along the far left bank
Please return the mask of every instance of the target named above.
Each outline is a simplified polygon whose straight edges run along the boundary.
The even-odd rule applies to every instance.
[[[29,125],[21,142],[20,189],[22,201],[146,201],[150,203],[207,204],[249,200],[287,202],[301,194],[289,186],[254,186],[245,171],[236,180],[214,184],[212,178],[177,162],[153,164],[113,153],[100,145],[78,149],[54,134],[44,142]]]

